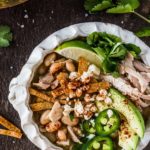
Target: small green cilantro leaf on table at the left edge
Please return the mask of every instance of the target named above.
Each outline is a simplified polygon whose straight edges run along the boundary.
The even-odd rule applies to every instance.
[[[12,41],[12,33],[9,26],[0,26],[0,47],[8,47]]]

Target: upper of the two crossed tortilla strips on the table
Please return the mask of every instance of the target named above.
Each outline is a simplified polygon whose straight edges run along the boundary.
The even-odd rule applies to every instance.
[[[21,133],[21,130],[19,128],[17,128],[15,125],[13,125],[11,122],[9,122],[8,120],[6,120],[4,117],[2,117],[0,115],[0,124],[2,126],[4,126],[5,128],[9,129],[9,130],[12,130],[14,132],[20,132]]]

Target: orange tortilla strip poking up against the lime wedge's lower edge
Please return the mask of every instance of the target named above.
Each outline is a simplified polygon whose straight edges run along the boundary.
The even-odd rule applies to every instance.
[[[89,62],[85,58],[80,57],[78,60],[78,73],[79,73],[79,75],[82,75],[83,72],[86,72],[88,70],[88,67],[89,67]]]

